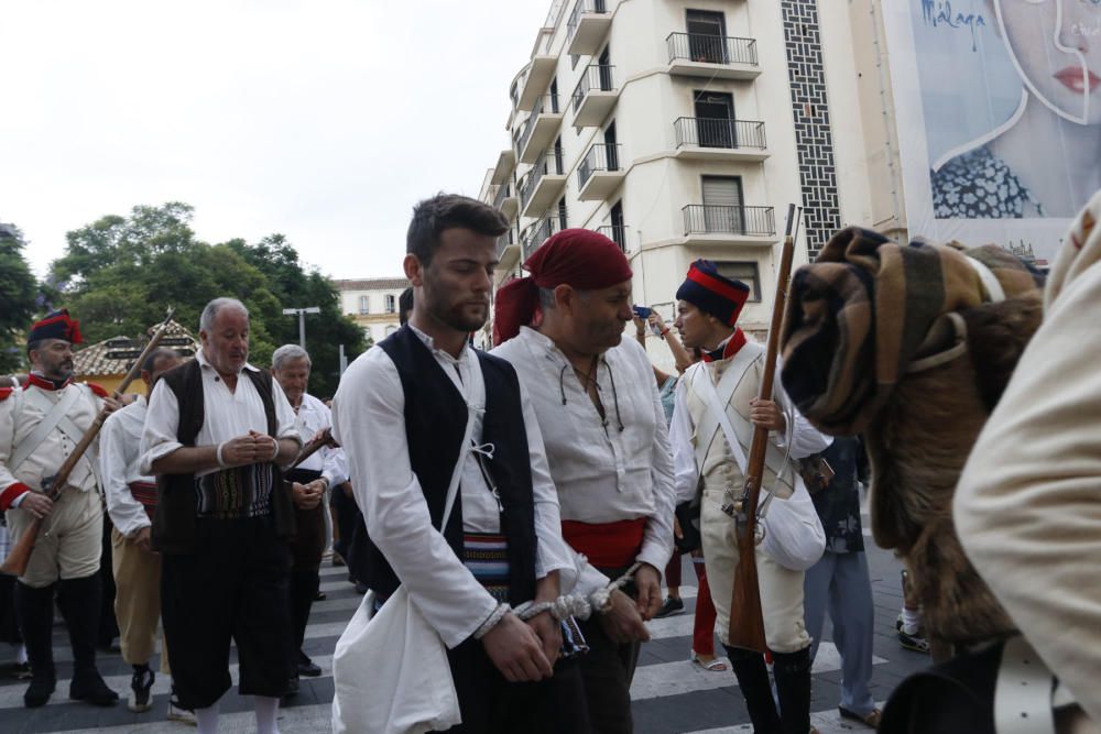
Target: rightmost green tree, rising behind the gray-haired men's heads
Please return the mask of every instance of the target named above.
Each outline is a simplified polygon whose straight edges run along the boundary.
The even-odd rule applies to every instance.
[[[320,314],[306,315],[306,350],[313,362],[309,391],[321,397],[333,395],[340,380],[340,344],[349,361],[366,349],[363,331],[341,313],[340,294],[333,283],[316,270],[307,272],[298,252],[282,234],[270,234],[257,244],[243,240],[226,244],[266,276],[281,304],[280,320],[268,324],[280,344],[298,343],[298,317],[283,316],[282,308],[321,309]]]

